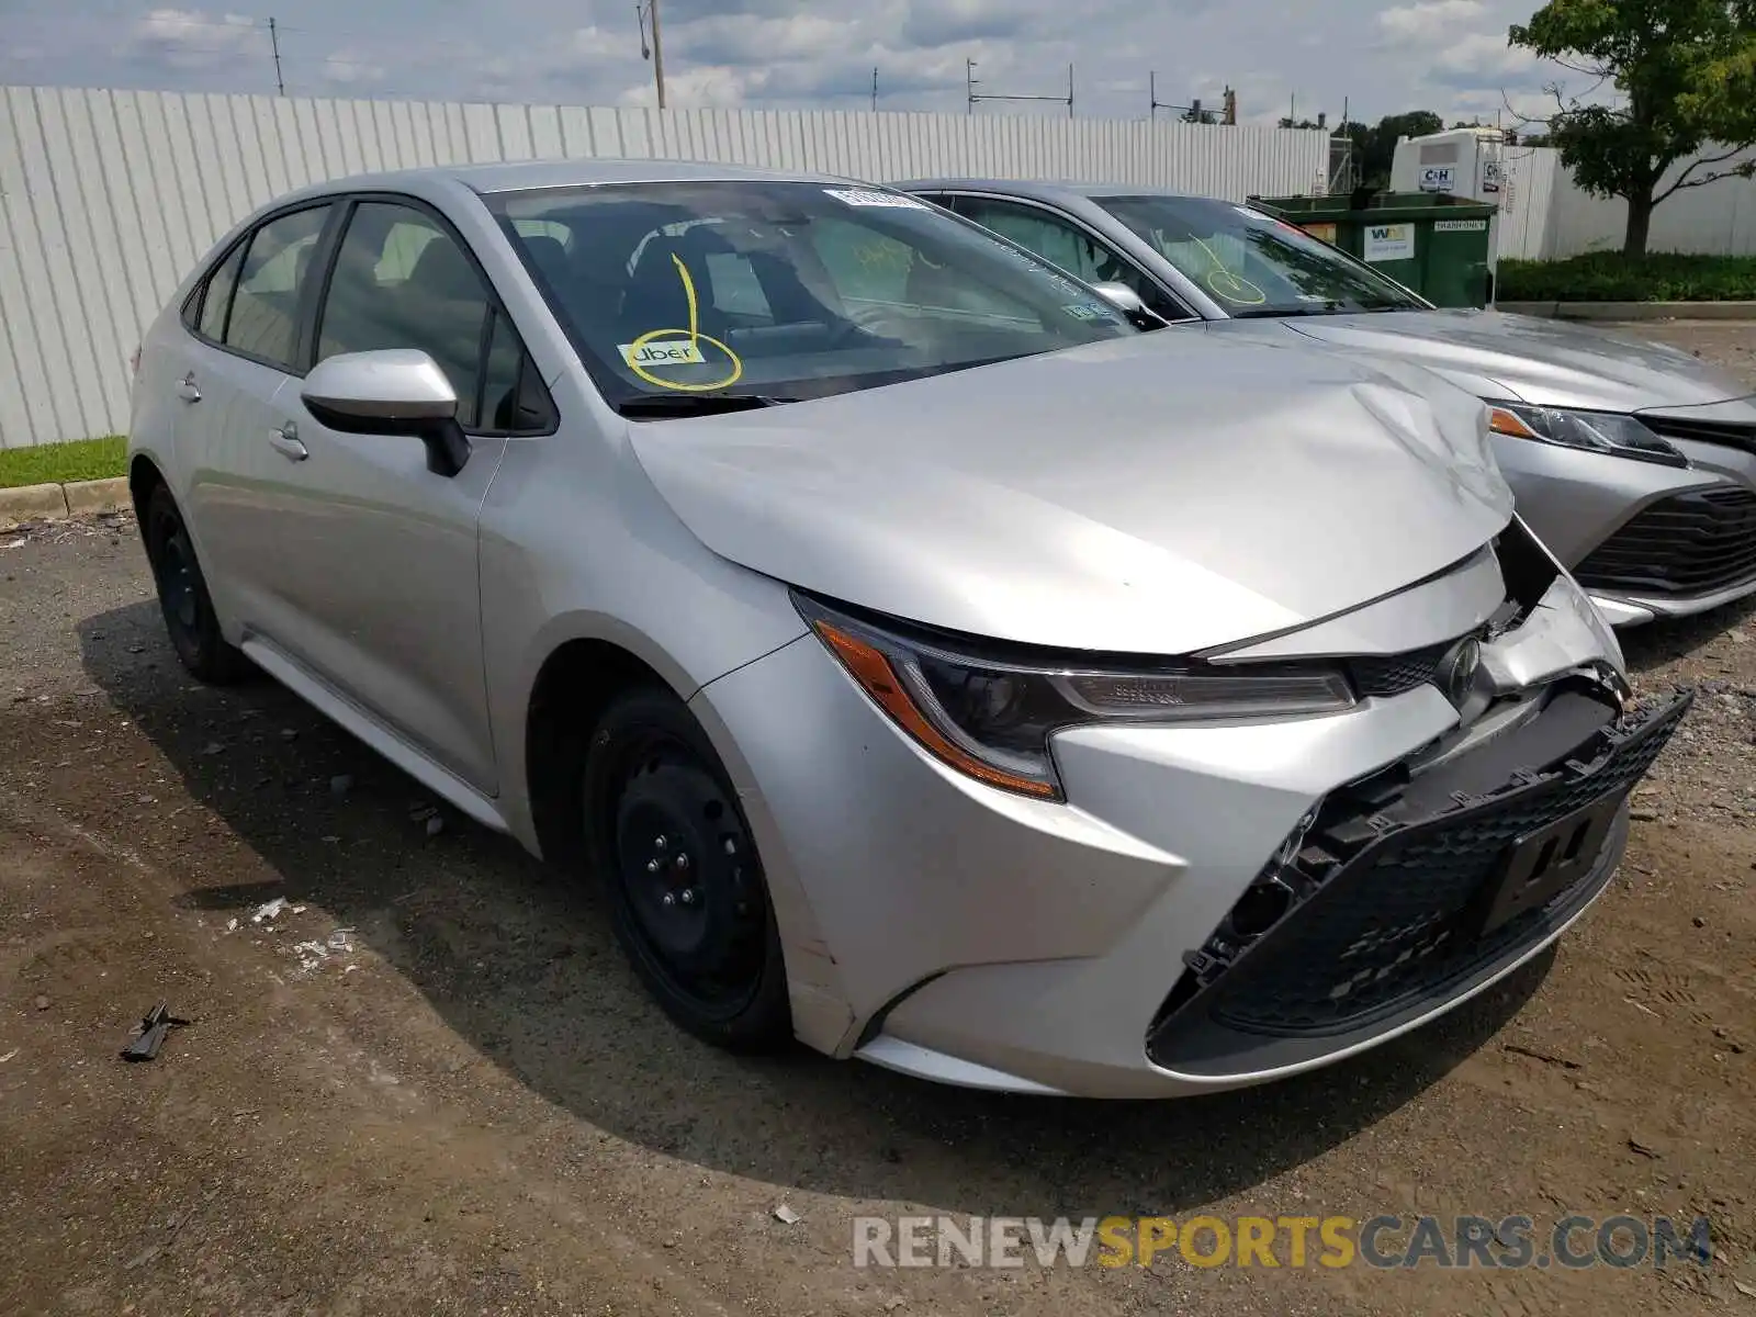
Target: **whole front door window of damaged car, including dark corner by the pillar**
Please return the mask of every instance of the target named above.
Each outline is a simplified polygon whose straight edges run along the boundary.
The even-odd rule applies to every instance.
[[[462,242],[413,205],[360,202],[335,251],[316,358],[385,348],[434,358],[465,430],[551,428],[548,392]]]

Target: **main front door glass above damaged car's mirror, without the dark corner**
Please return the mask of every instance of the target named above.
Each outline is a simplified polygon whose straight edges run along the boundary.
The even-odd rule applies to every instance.
[[[437,220],[399,202],[362,202],[335,253],[318,318],[318,360],[420,348],[457,390],[457,420],[481,421],[488,290]],[[493,406],[492,402],[488,404]]]

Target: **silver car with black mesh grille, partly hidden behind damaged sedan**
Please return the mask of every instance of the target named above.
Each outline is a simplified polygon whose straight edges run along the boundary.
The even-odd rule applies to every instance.
[[[1689,353],[1491,311],[1438,311],[1231,202],[1122,184],[924,179],[931,197],[1162,320],[1396,356],[1494,404],[1519,515],[1616,625],[1756,592],[1756,397]]]

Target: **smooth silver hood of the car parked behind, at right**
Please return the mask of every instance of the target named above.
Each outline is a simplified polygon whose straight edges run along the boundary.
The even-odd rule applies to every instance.
[[[1482,397],[1544,407],[1644,411],[1749,393],[1735,376],[1679,348],[1498,311],[1299,316],[1289,328],[1335,348],[1417,362]]]

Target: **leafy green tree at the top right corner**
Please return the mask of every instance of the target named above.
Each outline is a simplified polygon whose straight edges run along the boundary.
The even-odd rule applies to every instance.
[[[1508,37],[1598,79],[1591,91],[1621,93],[1616,105],[1582,104],[1551,86],[1549,135],[1580,188],[1628,200],[1624,255],[1645,255],[1652,209],[1668,197],[1756,172],[1728,163],[1756,144],[1756,0],[1549,0]],[[1716,155],[1659,186],[1710,142]]]

